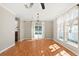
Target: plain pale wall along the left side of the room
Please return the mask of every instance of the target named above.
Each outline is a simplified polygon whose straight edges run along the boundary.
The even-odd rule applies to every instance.
[[[15,15],[0,6],[0,52],[15,43]]]

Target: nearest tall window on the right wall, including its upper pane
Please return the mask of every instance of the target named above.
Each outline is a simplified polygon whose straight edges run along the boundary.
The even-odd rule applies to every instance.
[[[78,9],[73,8],[69,12],[69,20],[66,22],[67,43],[78,48]]]

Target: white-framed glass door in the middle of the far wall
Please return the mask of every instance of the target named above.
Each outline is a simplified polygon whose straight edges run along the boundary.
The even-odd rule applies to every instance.
[[[44,38],[44,22],[33,22],[32,23],[32,39],[43,39]]]

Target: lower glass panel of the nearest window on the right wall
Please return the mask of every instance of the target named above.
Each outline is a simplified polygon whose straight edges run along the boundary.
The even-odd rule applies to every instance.
[[[72,20],[73,22],[68,27],[67,43],[78,47],[78,20]]]

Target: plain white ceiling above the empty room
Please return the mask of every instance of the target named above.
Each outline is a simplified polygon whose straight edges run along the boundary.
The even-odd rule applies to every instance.
[[[36,20],[39,13],[39,20],[53,20],[58,15],[73,7],[74,3],[45,3],[45,10],[42,10],[40,3],[34,3],[32,8],[25,8],[24,3],[4,3],[3,6],[16,13],[16,16],[23,20]]]

